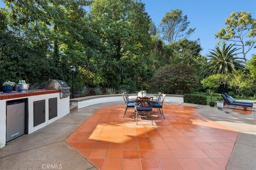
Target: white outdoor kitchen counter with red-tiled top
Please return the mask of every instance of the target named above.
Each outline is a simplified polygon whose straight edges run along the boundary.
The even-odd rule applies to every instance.
[[[0,92],[0,148],[6,145],[6,128],[10,125],[7,113],[8,103],[23,100],[25,102],[25,134],[30,134],[70,112],[69,96],[60,98],[60,90],[27,90],[26,92]],[[8,119],[8,120],[7,120]],[[8,123],[8,124],[7,124]],[[15,126],[14,126],[15,127]]]

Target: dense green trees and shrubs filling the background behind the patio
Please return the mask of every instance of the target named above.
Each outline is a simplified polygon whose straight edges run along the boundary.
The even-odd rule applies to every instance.
[[[56,79],[71,87],[70,66],[74,65],[77,68],[74,90],[78,93],[84,87],[130,93],[142,87],[147,92],[184,94],[204,91],[200,82],[211,74],[228,74],[222,91],[255,95],[255,55],[248,63],[238,61],[233,53],[237,49],[232,45],[216,46],[210,57],[200,55],[200,39],[189,39],[196,28],[189,28],[188,18],[181,10],[167,12],[160,26],[175,22],[183,28],[175,30],[176,35],[182,36],[164,43],[166,36],[162,35],[172,34],[173,27],[158,29],[140,0],[4,0],[4,3],[7,8],[0,8],[0,84],[22,79],[32,84],[32,88],[44,88],[48,79]],[[250,13],[235,14],[241,22],[234,26],[247,23],[245,27],[250,29],[256,25]],[[255,32],[252,29],[250,36]],[[220,34],[216,37],[225,38]],[[254,45],[254,39],[250,43]],[[227,59],[231,65],[225,65]],[[228,72],[221,72],[222,68],[229,68]],[[209,69],[219,71],[209,72]],[[243,78],[240,84],[231,82],[235,80],[234,70],[247,75],[240,78]],[[249,79],[251,84],[244,84]]]

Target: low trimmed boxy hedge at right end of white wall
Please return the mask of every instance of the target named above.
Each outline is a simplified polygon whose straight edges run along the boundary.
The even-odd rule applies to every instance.
[[[207,105],[207,97],[202,94],[184,94],[183,99],[185,103]]]

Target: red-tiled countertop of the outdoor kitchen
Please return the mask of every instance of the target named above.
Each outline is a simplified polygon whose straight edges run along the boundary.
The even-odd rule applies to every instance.
[[[36,96],[41,94],[59,93],[60,90],[27,90],[25,92],[12,91],[12,93],[0,92],[0,100]]]

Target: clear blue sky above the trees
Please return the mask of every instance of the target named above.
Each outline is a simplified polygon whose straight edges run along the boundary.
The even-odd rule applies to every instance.
[[[188,16],[189,27],[196,28],[190,40],[200,38],[203,48],[202,55],[206,55],[209,49],[214,49],[218,39],[214,35],[225,28],[225,19],[232,12],[251,12],[252,18],[256,19],[256,0],[142,0],[146,12],[158,27],[166,12],[182,10],[183,15]],[[0,8],[5,5],[0,0]],[[246,55],[247,59],[256,54],[256,49],[251,49]],[[242,56],[241,56],[242,57]]]

